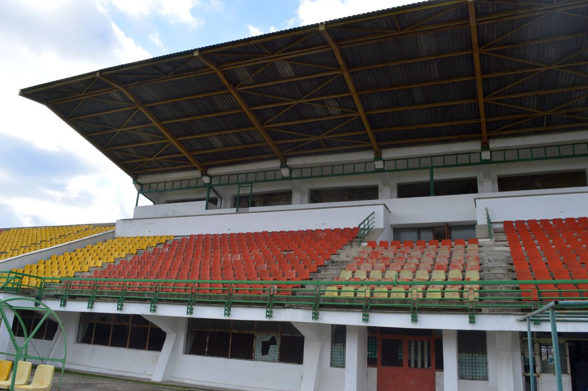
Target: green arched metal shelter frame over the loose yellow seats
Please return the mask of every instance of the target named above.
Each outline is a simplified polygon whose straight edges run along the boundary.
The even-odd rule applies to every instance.
[[[33,308],[28,307],[28,306],[22,306],[22,305],[16,306],[16,305],[10,304],[11,302],[15,302],[15,301],[22,302],[23,300],[28,301],[28,302],[33,302],[33,304],[35,306],[35,308],[34,308],[35,311],[45,312],[45,315],[43,315],[43,318],[41,318],[41,321],[38,323],[38,325],[36,325],[35,329],[32,330],[30,335],[26,331],[25,323],[23,322],[23,320],[17,310],[19,310],[19,309],[31,310]],[[24,337],[25,337],[25,342],[23,343],[22,346],[19,346],[18,342],[16,342],[16,337],[15,337],[14,333],[12,332],[12,324],[8,321],[8,317],[6,316],[6,310],[11,310],[12,313],[14,313],[14,317],[21,324],[21,329],[22,329],[22,331],[24,333]],[[14,350],[15,350],[15,353],[0,352],[0,354],[2,354],[2,355],[14,356],[15,364],[14,364],[14,370],[12,371],[12,375],[10,378],[9,390],[11,390],[11,391],[14,390],[14,381],[16,379],[16,363],[18,363],[20,360],[26,360],[26,359],[55,361],[55,362],[61,363],[61,375],[59,376],[58,390],[61,389],[61,382],[63,380],[64,371],[65,371],[65,360],[66,360],[67,353],[68,353],[68,343],[67,343],[67,337],[65,335],[64,325],[63,325],[63,323],[61,323],[61,320],[59,319],[59,316],[57,316],[55,311],[52,310],[51,308],[49,308],[49,306],[47,306],[45,303],[43,303],[37,299],[28,298],[28,297],[17,297],[17,298],[8,298],[8,299],[0,300],[0,316],[2,316],[2,325],[4,325],[4,327],[6,327],[6,332],[8,333],[8,336],[10,337],[10,340],[12,342],[12,346],[14,346]],[[62,339],[64,341],[64,356],[61,359],[56,358],[56,357],[33,356],[33,355],[29,355],[29,353],[28,353],[28,346],[29,346],[29,343],[31,342],[31,339],[35,336],[36,332],[38,332],[38,330],[41,328],[41,326],[43,325],[45,320],[47,318],[49,318],[49,316],[52,316],[53,320],[55,320],[55,322],[58,323],[59,328],[61,329],[62,336],[63,336]]]

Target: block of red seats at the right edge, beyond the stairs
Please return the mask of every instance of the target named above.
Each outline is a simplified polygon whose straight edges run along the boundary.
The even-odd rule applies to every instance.
[[[505,221],[505,233],[519,280],[586,279],[588,263],[588,219]],[[523,284],[521,289],[532,289]],[[539,284],[543,299],[579,298],[578,289],[588,284]],[[584,292],[588,297],[588,292]],[[523,297],[537,299],[537,294],[523,292]]]

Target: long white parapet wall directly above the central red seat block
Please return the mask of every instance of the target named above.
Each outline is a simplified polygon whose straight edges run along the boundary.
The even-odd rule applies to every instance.
[[[376,227],[389,228],[390,219],[389,211],[381,203],[327,208],[289,206],[286,210],[264,212],[227,213],[223,209],[210,212],[206,215],[118,220],[115,232],[116,236],[142,236],[345,228],[358,226],[372,212],[375,212]]]

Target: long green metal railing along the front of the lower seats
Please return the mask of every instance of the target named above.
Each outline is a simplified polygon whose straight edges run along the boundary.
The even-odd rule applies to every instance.
[[[29,285],[22,284],[28,276]],[[318,319],[320,308],[361,309],[363,322],[372,310],[405,310],[412,322],[425,311],[466,312],[469,322],[485,308],[526,313],[543,303],[560,298],[588,299],[588,290],[549,289],[549,285],[586,284],[587,280],[480,280],[480,281],[269,281],[269,280],[164,280],[108,278],[41,278],[4,272],[0,290],[34,296],[38,300],[85,300],[88,309],[96,300],[149,303],[156,312],[158,303],[186,306],[192,315],[195,305],[222,305],[225,316],[233,305],[265,306],[266,318],[275,307],[312,309]],[[544,285],[548,285],[547,287]],[[509,286],[509,289],[505,289]],[[399,287],[401,289],[399,289]],[[339,289],[338,289],[339,288]],[[387,297],[378,288],[386,288]],[[522,289],[521,289],[522,288]],[[336,289],[336,290],[335,290]],[[388,294],[403,297],[389,297]],[[437,297],[440,296],[440,297]]]

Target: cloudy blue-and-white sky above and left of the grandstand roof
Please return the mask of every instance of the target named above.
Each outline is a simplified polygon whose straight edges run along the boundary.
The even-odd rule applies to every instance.
[[[411,2],[1,0],[0,228],[114,222],[135,206],[131,178],[19,89]]]

